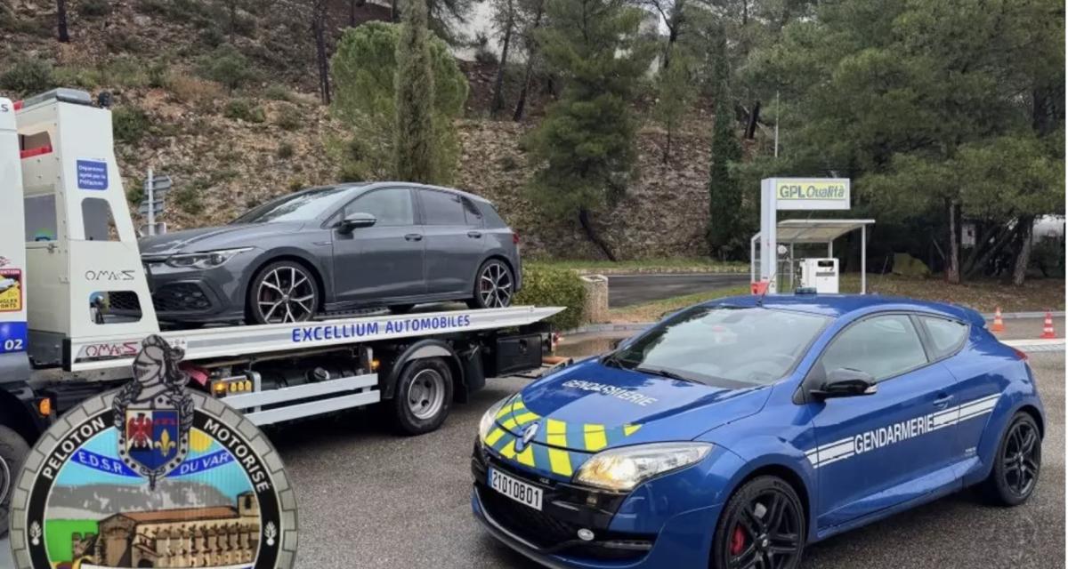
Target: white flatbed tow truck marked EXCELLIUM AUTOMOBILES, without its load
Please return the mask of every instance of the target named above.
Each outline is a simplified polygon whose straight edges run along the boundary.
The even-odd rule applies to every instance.
[[[543,320],[511,306],[161,331],[112,145],[82,91],[0,98],[0,535],[14,470],[42,431],[130,377],[150,334],[185,350],[190,385],[270,425],[379,405],[438,428],[487,377],[537,369]],[[139,316],[109,312],[136,298]],[[124,309],[127,309],[124,301]]]

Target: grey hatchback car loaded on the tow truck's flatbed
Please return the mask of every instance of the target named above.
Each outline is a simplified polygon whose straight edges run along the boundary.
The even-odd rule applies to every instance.
[[[139,244],[161,321],[278,323],[424,302],[507,306],[521,284],[518,243],[477,195],[370,183],[310,188]],[[112,294],[112,310],[123,300]]]

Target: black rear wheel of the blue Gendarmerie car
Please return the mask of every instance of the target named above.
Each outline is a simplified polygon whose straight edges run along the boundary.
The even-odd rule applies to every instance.
[[[1038,485],[1042,464],[1042,438],[1034,417],[1017,413],[998,447],[996,462],[985,484],[986,497],[998,505],[1017,506],[1027,501]]]

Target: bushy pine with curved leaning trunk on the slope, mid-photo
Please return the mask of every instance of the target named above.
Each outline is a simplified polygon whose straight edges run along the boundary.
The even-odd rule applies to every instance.
[[[532,133],[531,149],[544,164],[531,181],[532,197],[547,215],[577,217],[586,237],[615,260],[592,215],[614,205],[633,173],[631,104],[653,46],[639,35],[642,11],[625,0],[549,0],[546,16],[540,51],[565,83]]]

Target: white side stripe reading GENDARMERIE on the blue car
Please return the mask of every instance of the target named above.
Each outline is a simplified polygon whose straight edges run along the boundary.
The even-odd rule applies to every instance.
[[[1000,398],[1001,394],[994,394],[937,413],[920,415],[864,431],[808,449],[805,452],[805,458],[808,459],[814,469],[819,469],[839,460],[877,451],[883,446],[890,446],[916,437],[923,437],[928,432],[986,415],[993,411]]]

